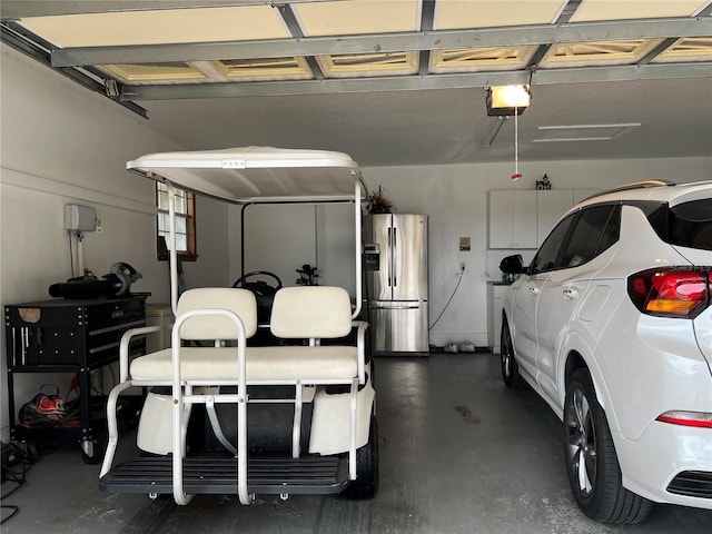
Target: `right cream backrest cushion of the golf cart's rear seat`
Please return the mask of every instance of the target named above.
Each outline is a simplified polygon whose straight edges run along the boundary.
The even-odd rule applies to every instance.
[[[352,332],[352,300],[343,287],[283,287],[269,323],[271,333],[285,339],[344,337]]]

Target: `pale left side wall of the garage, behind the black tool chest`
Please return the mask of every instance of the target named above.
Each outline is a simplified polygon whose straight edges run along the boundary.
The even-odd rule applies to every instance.
[[[168,300],[168,267],[156,259],[154,184],[126,171],[142,154],[176,150],[150,122],[24,56],[0,48],[0,303],[50,298],[48,287],[71,276],[63,206],[97,209],[103,231],[87,233],[85,265],[97,276],[128,261],[144,278],[132,289]],[[215,205],[215,206],[212,206]],[[188,285],[227,279],[227,208],[200,199],[200,258],[186,265]],[[214,239],[215,237],[215,239]],[[4,328],[0,328],[0,427],[8,439]],[[18,375],[16,399],[71,375]],[[109,382],[110,384],[110,382]]]

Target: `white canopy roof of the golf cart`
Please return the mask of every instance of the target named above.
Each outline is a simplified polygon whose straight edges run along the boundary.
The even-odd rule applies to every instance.
[[[126,168],[159,181],[234,204],[354,200],[365,197],[350,156],[326,150],[245,147],[160,152]]]

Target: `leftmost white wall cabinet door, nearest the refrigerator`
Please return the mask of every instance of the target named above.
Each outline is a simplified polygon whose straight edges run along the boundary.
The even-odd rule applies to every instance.
[[[536,191],[490,191],[490,248],[536,248]]]

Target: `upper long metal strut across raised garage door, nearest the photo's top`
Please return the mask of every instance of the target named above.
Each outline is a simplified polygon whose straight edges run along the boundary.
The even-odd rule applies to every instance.
[[[52,67],[265,59],[708,36],[712,36],[712,17],[257,41],[62,48],[52,52]]]

